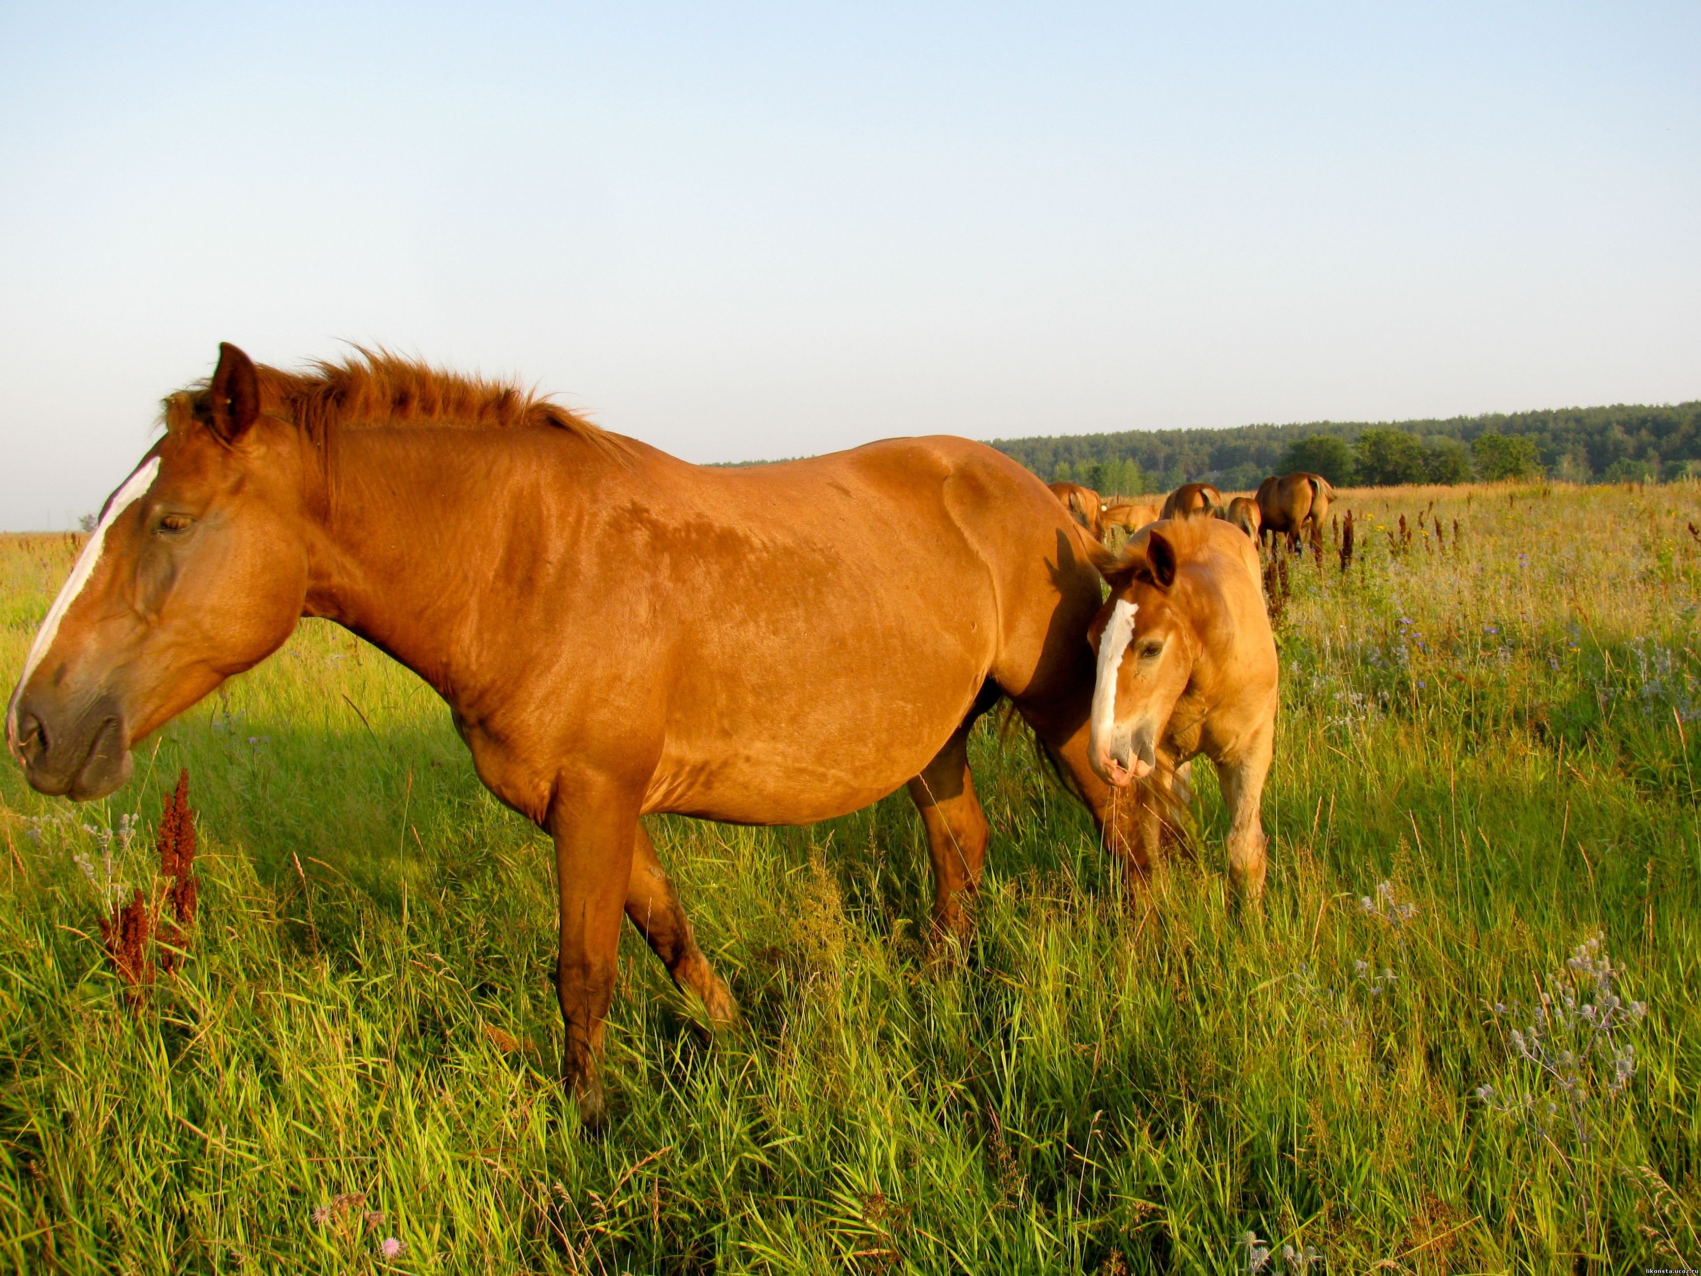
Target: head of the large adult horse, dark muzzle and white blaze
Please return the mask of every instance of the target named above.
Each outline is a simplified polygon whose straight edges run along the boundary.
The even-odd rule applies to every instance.
[[[7,704],[7,747],[43,793],[119,788],[136,740],[277,650],[301,616],[301,436],[262,415],[248,356],[219,347],[211,386],[168,400],[165,420],[100,512]]]

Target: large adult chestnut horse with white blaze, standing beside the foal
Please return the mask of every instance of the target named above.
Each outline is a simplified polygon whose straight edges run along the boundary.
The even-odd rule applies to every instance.
[[[1009,696],[1126,857],[1135,820],[1104,827],[1087,760],[1085,555],[1039,480],[966,439],[699,468],[510,386],[223,345],[102,510],[7,743],[39,791],[99,798],[298,618],[376,643],[555,839],[561,1067],[595,1121],[623,912],[737,1014],[641,815],[806,823],[908,783],[936,924],[964,934],[987,852],[968,732]]]

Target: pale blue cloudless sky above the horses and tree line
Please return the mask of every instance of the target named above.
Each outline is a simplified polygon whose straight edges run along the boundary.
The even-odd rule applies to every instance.
[[[0,9],[0,527],[219,340],[694,461],[1701,396],[1701,7]]]

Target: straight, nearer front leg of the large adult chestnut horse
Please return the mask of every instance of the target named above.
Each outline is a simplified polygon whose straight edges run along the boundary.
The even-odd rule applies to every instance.
[[[585,1125],[599,1125],[607,1106],[600,1077],[602,1024],[614,999],[640,798],[612,784],[563,786],[549,812],[561,902],[556,960],[556,994],[566,1024],[561,1080],[577,1092]]]

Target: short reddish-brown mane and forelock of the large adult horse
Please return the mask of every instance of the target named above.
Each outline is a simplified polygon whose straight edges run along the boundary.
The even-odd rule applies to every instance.
[[[333,429],[374,425],[464,430],[546,425],[600,446],[616,439],[577,412],[512,381],[447,373],[383,349],[357,345],[342,362],[315,359],[301,373],[257,364],[255,374],[260,412],[293,420],[315,442],[323,442]],[[165,400],[167,429],[208,420],[211,398],[211,381],[179,390]]]

